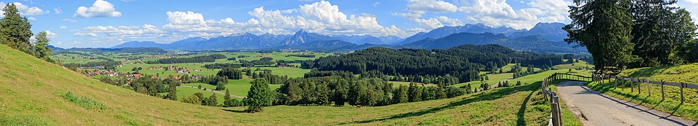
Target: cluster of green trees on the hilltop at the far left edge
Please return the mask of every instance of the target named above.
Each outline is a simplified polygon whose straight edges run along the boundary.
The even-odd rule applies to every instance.
[[[0,43],[8,45],[10,48],[23,51],[27,54],[34,55],[39,59],[44,59],[47,62],[55,62],[49,56],[52,53],[51,48],[48,48],[49,37],[46,31],[41,31],[38,34],[33,34],[32,25],[27,17],[20,15],[17,6],[14,3],[7,3],[4,8],[4,17],[0,19]],[[32,36],[34,36],[32,38]]]

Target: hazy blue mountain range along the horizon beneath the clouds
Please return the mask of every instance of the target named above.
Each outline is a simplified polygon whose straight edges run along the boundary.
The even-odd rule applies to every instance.
[[[279,49],[350,51],[375,46],[390,48],[451,48],[463,44],[500,44],[515,50],[531,52],[584,53],[584,48],[573,48],[563,41],[567,32],[563,23],[538,23],[532,29],[489,27],[483,24],[447,26],[420,32],[406,38],[398,36],[327,36],[303,29],[295,34],[231,34],[213,38],[186,38],[172,43],[131,41],[111,48],[163,48],[166,50],[212,49]]]

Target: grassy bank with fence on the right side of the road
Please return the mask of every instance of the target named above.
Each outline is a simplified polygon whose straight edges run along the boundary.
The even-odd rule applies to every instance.
[[[663,66],[655,68],[628,69],[621,71],[619,76],[631,76],[642,80],[665,80],[668,82],[698,83],[698,64],[687,64],[680,66]],[[620,81],[618,81],[620,83]],[[620,84],[619,84],[620,85]],[[594,90],[604,92],[613,97],[624,99],[635,104],[647,106],[648,108],[672,113],[685,119],[698,120],[698,90],[684,89],[685,102],[681,104],[680,88],[674,86],[664,86],[666,99],[661,100],[661,86],[651,86],[651,96],[648,96],[647,84],[641,84],[642,90],[637,93],[637,87],[631,92],[630,87],[617,87],[613,89],[613,81],[608,85],[605,83],[590,83],[587,85]]]

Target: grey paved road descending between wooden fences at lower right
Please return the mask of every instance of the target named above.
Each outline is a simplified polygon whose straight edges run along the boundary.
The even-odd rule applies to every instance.
[[[566,107],[584,125],[696,125],[695,121],[609,97],[583,84],[565,81],[558,85],[557,90]]]

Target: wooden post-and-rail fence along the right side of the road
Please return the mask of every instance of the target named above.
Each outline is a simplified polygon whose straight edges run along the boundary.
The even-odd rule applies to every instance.
[[[690,83],[671,83],[671,82],[665,82],[664,80],[649,80],[647,79],[641,79],[641,78],[627,78],[627,77],[621,77],[621,76],[611,76],[611,75],[604,75],[604,74],[594,74],[592,75],[592,78],[594,81],[603,84],[603,83],[608,83],[609,86],[613,86],[613,89],[616,89],[618,87],[618,80],[620,80],[620,85],[625,86],[629,85],[630,86],[630,92],[635,92],[635,88],[637,87],[637,93],[641,93],[640,90],[642,90],[642,87],[640,86],[640,83],[647,83],[647,95],[651,96],[651,85],[659,85],[661,86],[661,99],[665,99],[665,92],[664,92],[664,85],[669,85],[669,86],[676,86],[680,88],[680,95],[681,95],[681,103],[685,101],[684,98],[684,88],[691,88],[691,89],[698,89],[698,85],[696,84],[690,84]],[[613,83],[611,83],[611,78],[614,79]],[[626,84],[627,83],[627,84]],[[623,88],[625,90],[625,88]]]

